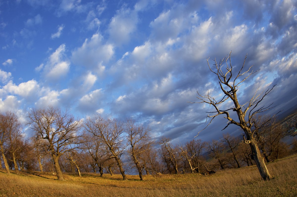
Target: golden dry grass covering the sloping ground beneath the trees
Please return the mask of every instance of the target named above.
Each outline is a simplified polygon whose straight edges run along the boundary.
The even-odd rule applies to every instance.
[[[17,176],[0,172],[0,196],[297,196],[297,155],[267,165],[274,179],[263,181],[256,166],[199,174],[145,176],[104,174],[64,175],[23,172]]]

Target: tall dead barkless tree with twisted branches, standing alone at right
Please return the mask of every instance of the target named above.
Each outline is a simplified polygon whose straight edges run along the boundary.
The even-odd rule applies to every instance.
[[[238,71],[238,73],[234,75],[234,71],[232,64],[231,64],[231,52],[229,56],[226,56],[222,60],[217,63],[216,59],[214,59],[214,64],[210,65],[207,59],[208,68],[209,70],[214,73],[217,77],[219,87],[223,93],[223,96],[221,98],[214,98],[211,95],[209,95],[209,92],[206,95],[201,95],[198,91],[198,99],[200,102],[196,103],[207,103],[208,105],[211,105],[214,107],[214,111],[207,112],[209,115],[207,116],[210,118],[211,124],[212,120],[219,116],[224,115],[228,123],[225,126],[224,129],[226,129],[230,124],[235,124],[239,126],[247,136],[247,139],[244,138],[244,142],[249,144],[252,155],[255,160],[255,163],[257,165],[257,168],[260,172],[261,177],[264,180],[270,180],[271,175],[268,172],[268,169],[266,167],[266,164],[264,162],[264,159],[261,155],[261,152],[257,146],[257,141],[255,140],[255,137],[252,133],[252,118],[257,115],[258,113],[264,112],[271,108],[271,105],[265,106],[260,105],[260,102],[263,101],[264,97],[274,88],[274,86],[271,89],[267,89],[265,92],[258,93],[258,89],[255,91],[255,94],[251,96],[251,99],[245,102],[244,104],[241,104],[238,100],[238,88],[243,84],[243,82],[252,74],[256,73],[257,71],[252,70],[252,66],[248,67],[246,71],[244,71],[244,65],[246,61],[247,56],[244,58],[244,62],[241,66],[241,69]],[[246,96],[247,97],[247,96]],[[229,107],[222,109],[223,102],[230,100],[232,103],[232,106],[227,105]],[[231,117],[232,112],[236,113],[237,117],[234,119]],[[207,126],[208,126],[207,125]],[[206,126],[206,127],[207,127]],[[205,127],[205,128],[206,128]],[[204,129],[205,129],[204,128]],[[224,130],[222,129],[222,130]]]

